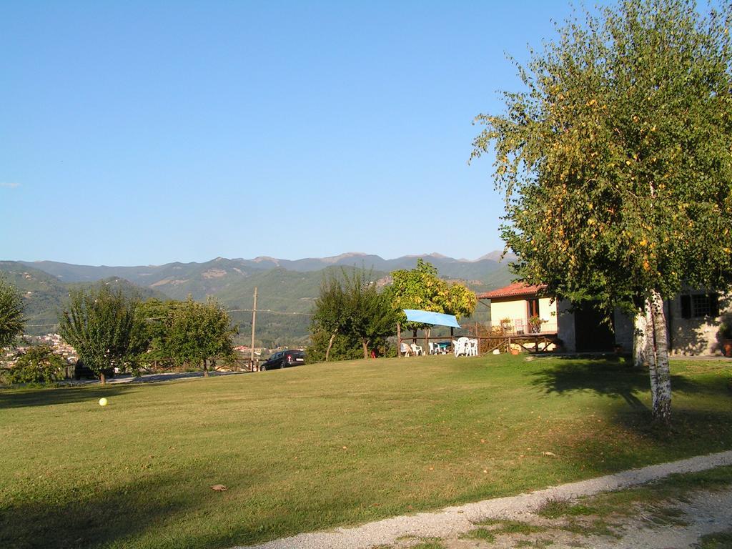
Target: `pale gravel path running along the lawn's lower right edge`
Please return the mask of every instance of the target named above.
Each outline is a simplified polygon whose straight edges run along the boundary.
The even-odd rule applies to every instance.
[[[611,474],[605,477],[572,482],[569,484],[537,490],[536,492],[510,496],[506,498],[488,499],[477,503],[466,504],[460,507],[446,507],[441,511],[430,513],[419,513],[417,515],[406,515],[402,517],[387,518],[373,523],[363,524],[354,528],[337,528],[332,531],[316,532],[313,534],[298,534],[293,537],[275,539],[261,545],[250,546],[250,549],[370,549],[378,545],[392,545],[400,539],[409,537],[438,537],[457,538],[471,529],[474,523],[487,518],[523,518],[527,512],[538,509],[549,500],[564,500],[577,498],[579,496],[592,496],[594,494],[619,490],[634,485],[641,485],[674,473],[693,473],[706,469],[732,465],[732,451],[720,452],[717,454],[697,456],[687,460],[674,461],[672,463],[661,463],[660,465],[632,469],[618,474]],[[720,496],[722,497],[722,496]],[[706,512],[714,513],[720,509],[728,513],[732,525],[732,491],[728,491],[727,499],[721,504],[712,506]],[[702,506],[703,502],[696,502]],[[689,505],[693,505],[693,501]],[[699,507],[701,509],[701,507]],[[699,515],[703,515],[700,511]],[[722,518],[722,520],[725,520]],[[712,521],[714,522],[714,521]],[[717,529],[717,531],[719,528]],[[698,529],[701,534],[707,533]],[[701,535],[700,534],[700,535]],[[695,539],[698,535],[695,536]],[[625,539],[625,538],[624,538]],[[678,534],[674,539],[678,539]],[[635,545],[607,545],[607,547],[656,547],[646,545],[641,539],[630,540]],[[460,547],[467,547],[463,542]],[[457,546],[457,545],[456,545]],[[472,547],[476,547],[473,542]],[[593,547],[605,547],[605,545],[592,545]],[[657,545],[657,547],[687,547],[687,545]],[[558,545],[554,545],[558,547]],[[243,548],[236,548],[243,549]]]

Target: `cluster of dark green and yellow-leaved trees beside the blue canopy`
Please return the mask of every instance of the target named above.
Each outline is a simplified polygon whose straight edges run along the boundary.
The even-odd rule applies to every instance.
[[[311,359],[328,361],[356,358],[356,348],[364,358],[369,348],[386,348],[386,338],[394,335],[397,324],[414,330],[427,327],[408,323],[403,309],[469,316],[475,310],[475,294],[462,284],[449,284],[438,277],[431,264],[417,260],[415,269],[392,272],[392,284],[378,291],[376,282],[363,270],[342,269],[340,276],[326,275],[313,307],[310,326],[313,345]]]

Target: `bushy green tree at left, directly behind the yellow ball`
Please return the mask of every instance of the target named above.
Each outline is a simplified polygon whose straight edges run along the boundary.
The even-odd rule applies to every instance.
[[[105,384],[104,370],[123,368],[138,350],[130,347],[136,328],[136,299],[102,284],[72,291],[59,318],[59,333],[79,359]]]

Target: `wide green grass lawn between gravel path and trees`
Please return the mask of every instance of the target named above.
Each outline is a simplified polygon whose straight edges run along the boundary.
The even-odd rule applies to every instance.
[[[524,358],[2,390],[0,547],[226,548],[732,449],[729,361],[673,362],[668,436],[645,373]]]

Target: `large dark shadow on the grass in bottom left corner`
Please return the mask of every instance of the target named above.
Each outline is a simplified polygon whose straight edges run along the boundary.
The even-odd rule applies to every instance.
[[[186,484],[187,475],[202,485]],[[235,545],[253,532],[242,525],[227,532],[181,531],[187,516],[200,515],[209,498],[224,502],[227,493],[211,490],[201,471],[168,471],[130,479],[109,489],[70,486],[64,493],[34,493],[0,500],[0,547],[4,549],[125,548],[161,546],[210,548]],[[215,475],[214,475],[215,476]],[[239,487],[246,488],[246,487]],[[224,504],[224,503],[222,503]],[[159,532],[155,532],[159,529]],[[141,535],[149,533],[146,540]],[[237,535],[238,534],[238,535]],[[176,542],[177,540],[177,542]]]

